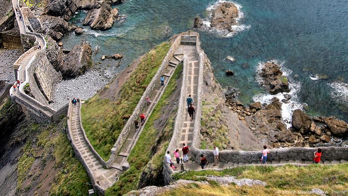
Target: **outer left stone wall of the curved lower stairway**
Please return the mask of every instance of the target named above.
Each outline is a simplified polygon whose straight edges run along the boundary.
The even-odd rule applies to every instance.
[[[74,149],[76,158],[80,161],[80,163],[85,167],[85,170],[87,172],[87,175],[89,177],[89,180],[91,181],[91,184],[93,185],[94,190],[98,193],[98,195],[104,195],[105,190],[101,188],[96,182],[97,179],[94,179],[93,172],[89,169],[87,166],[87,163],[84,161],[82,154],[78,150],[78,147],[75,145],[75,142],[73,140],[73,133],[72,133],[72,127],[71,127],[71,119],[73,116],[73,105],[72,102],[69,101],[69,106],[68,106],[68,131],[67,135],[70,140],[70,143]]]

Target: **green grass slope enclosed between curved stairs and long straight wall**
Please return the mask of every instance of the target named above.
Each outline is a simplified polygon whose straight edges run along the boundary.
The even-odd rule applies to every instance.
[[[117,100],[102,99],[97,94],[83,104],[81,115],[84,129],[94,149],[104,160],[110,157],[110,150],[127,122],[122,117],[132,114],[170,46],[170,43],[164,42],[141,59],[141,63],[122,85]]]

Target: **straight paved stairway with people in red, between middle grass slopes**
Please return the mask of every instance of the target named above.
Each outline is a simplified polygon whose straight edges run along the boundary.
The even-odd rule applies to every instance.
[[[119,151],[117,157],[113,161],[113,164],[111,167],[117,168],[117,169],[122,169],[123,167],[129,168],[129,163],[127,162],[128,155],[133,149],[134,145],[136,144],[141,132],[143,131],[145,124],[147,122],[147,119],[151,115],[151,112],[154,109],[155,104],[161,98],[162,93],[165,91],[165,87],[167,86],[170,77],[174,74],[176,66],[178,65],[180,61],[182,61],[182,56],[183,56],[182,54],[176,54],[171,58],[169,65],[164,70],[164,74],[163,74],[165,78],[165,86],[161,86],[160,81],[158,82],[158,84],[154,88],[154,91],[151,94],[150,104],[147,105],[142,110],[142,112],[146,116],[144,125],[141,126],[140,118],[138,118],[138,121],[139,121],[138,131],[134,129],[128,134],[127,139],[125,140],[121,150]]]

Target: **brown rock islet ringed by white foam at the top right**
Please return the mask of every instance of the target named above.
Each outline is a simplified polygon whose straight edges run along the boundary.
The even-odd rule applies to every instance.
[[[211,26],[219,30],[227,29],[231,31],[231,26],[237,24],[238,9],[232,2],[221,3],[213,12]]]

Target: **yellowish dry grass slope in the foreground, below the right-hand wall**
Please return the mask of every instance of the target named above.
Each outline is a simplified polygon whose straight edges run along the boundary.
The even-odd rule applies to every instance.
[[[345,191],[348,189],[348,164],[333,166],[310,165],[308,167],[296,167],[285,165],[281,167],[272,166],[244,166],[223,171],[188,171],[175,174],[174,179],[185,179],[200,181],[204,176],[236,176],[240,178],[256,179],[266,182],[265,187],[238,187],[236,185],[219,186],[210,182],[208,186],[191,184],[170,191],[164,195],[173,196],[200,196],[200,195],[298,195],[300,191],[311,191],[318,188],[328,191],[329,195],[335,195],[332,191]],[[214,193],[214,194],[212,194]],[[296,194],[297,193],[297,194]],[[342,192],[341,192],[342,193]],[[302,195],[302,194],[301,194]],[[336,194],[345,195],[345,194]]]

